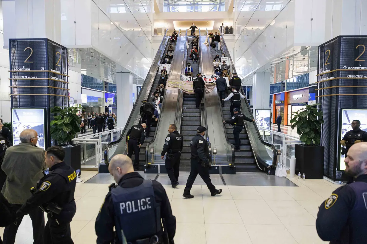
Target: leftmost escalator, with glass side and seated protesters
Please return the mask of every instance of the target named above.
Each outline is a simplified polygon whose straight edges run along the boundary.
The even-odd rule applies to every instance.
[[[104,159],[105,159],[105,164],[106,166],[108,166],[110,159],[116,155],[116,154],[126,154],[127,153],[127,145],[125,143],[125,138],[126,138],[126,134],[127,131],[136,124],[140,123],[140,106],[142,105],[142,100],[150,100],[150,94],[153,93],[153,91],[155,90],[158,80],[159,80],[159,74],[158,74],[158,67],[159,64],[164,56],[164,54],[166,53],[167,49],[168,49],[168,40],[169,40],[169,36],[167,36],[167,31],[166,33],[164,33],[164,37],[163,40],[159,46],[159,49],[157,50],[156,56],[152,62],[152,66],[149,69],[148,75],[146,76],[144,83],[142,85],[141,91],[135,101],[134,107],[130,113],[130,116],[127,120],[127,123],[125,125],[125,128],[123,130],[123,132],[121,133],[121,136],[119,137],[119,139],[110,142],[107,144],[106,149],[105,149],[105,154],[104,154]],[[123,105],[121,105],[123,106]],[[159,120],[158,120],[158,124],[159,124]],[[142,149],[140,150],[140,154],[139,154],[139,166],[143,166],[145,165],[145,148],[147,144],[149,144],[150,140],[152,140],[153,135],[155,135],[155,131],[156,131],[156,127],[151,127],[150,128],[150,137],[145,139],[145,142],[142,145]],[[132,160],[134,160],[134,155],[132,156]],[[99,172],[105,172],[106,171],[106,167],[103,164],[99,165]]]

